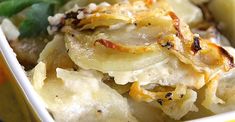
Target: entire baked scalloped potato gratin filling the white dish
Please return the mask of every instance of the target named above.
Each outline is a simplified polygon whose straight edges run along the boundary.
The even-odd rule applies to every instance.
[[[5,35],[55,121],[184,121],[235,110],[235,49],[219,5],[72,0],[47,18],[48,35],[34,38],[44,41]]]

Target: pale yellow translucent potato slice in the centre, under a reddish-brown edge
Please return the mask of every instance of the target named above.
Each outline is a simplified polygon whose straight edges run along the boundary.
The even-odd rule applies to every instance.
[[[94,46],[98,38],[100,37],[89,34],[89,32],[70,30],[65,35],[66,48],[70,58],[84,69],[107,72],[141,69],[164,60],[167,55],[160,50],[158,45],[155,45],[154,51],[139,54]]]

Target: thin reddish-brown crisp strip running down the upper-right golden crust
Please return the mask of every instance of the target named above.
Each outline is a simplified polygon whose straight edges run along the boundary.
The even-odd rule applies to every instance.
[[[178,18],[178,16],[176,16],[176,14],[172,11],[170,11],[168,13],[168,15],[170,15],[171,19],[173,20],[173,25],[174,25],[174,28],[175,30],[177,31],[176,33],[176,36],[178,36],[179,38],[181,39],[184,39],[184,36],[183,34],[181,33],[181,30],[180,30],[180,19]]]

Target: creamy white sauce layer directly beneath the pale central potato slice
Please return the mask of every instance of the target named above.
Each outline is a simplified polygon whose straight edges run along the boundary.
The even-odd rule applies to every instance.
[[[108,72],[113,76],[117,84],[127,84],[138,81],[141,85],[157,83],[163,86],[176,86],[184,84],[188,87],[201,88],[204,82],[204,75],[193,70],[189,65],[181,63],[174,56],[162,62],[135,71],[112,71]]]

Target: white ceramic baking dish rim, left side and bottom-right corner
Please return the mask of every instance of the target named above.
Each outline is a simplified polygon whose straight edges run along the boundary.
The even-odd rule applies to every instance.
[[[48,113],[43,102],[39,99],[37,93],[34,91],[29,79],[27,78],[25,71],[22,69],[16,55],[10,47],[6,37],[4,36],[0,27],[0,51],[7,62],[8,68],[17,80],[22,92],[27,98],[29,104],[43,122],[53,122],[53,118]],[[188,122],[235,122],[235,111],[227,112],[219,115],[214,115],[210,117],[204,117],[196,120],[189,120]]]

